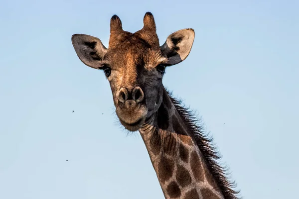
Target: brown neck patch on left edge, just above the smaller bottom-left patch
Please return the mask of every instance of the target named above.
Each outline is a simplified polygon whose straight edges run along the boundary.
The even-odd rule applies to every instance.
[[[161,183],[169,180],[172,176],[174,162],[162,157],[158,164],[158,177]]]

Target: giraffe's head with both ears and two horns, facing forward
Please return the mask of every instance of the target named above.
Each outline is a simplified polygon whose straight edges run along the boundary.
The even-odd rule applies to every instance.
[[[136,131],[161,104],[165,67],[188,56],[194,36],[193,29],[181,29],[160,46],[154,18],[147,12],[144,27],[135,33],[124,31],[120,18],[112,16],[109,48],[85,34],[74,34],[72,44],[85,65],[104,71],[120,122]]]

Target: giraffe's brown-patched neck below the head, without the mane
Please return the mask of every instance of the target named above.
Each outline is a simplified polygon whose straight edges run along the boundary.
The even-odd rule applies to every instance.
[[[140,133],[166,199],[224,198],[164,88],[160,108]]]

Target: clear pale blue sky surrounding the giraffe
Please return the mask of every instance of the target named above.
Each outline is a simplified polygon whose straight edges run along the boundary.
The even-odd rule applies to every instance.
[[[104,73],[71,44],[84,33],[108,46],[113,14],[135,32],[147,11],[160,43],[195,30],[163,84],[203,117],[244,199],[296,198],[299,1],[0,4],[1,199],[163,198],[140,135],[118,123]]]

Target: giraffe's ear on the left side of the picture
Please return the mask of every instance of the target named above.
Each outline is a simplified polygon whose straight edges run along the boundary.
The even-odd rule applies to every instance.
[[[85,65],[95,69],[102,66],[101,61],[108,49],[100,39],[86,34],[74,34],[72,44],[77,56]]]

